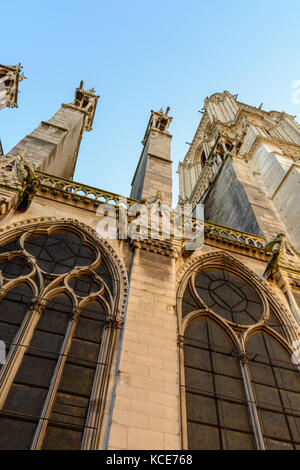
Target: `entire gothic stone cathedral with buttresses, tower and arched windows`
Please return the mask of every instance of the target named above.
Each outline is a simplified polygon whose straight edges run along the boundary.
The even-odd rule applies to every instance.
[[[300,125],[206,98],[172,209],[169,108],[130,197],[73,181],[97,102],[0,146],[0,449],[300,449]]]

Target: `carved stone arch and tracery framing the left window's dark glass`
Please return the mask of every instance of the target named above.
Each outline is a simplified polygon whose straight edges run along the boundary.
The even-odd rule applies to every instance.
[[[118,354],[118,349],[115,346],[118,346],[120,344],[121,324],[123,323],[125,316],[125,307],[128,295],[127,273],[122,264],[122,261],[120,260],[115,250],[111,247],[111,245],[106,240],[99,237],[97,232],[91,227],[76,219],[40,217],[34,219],[21,220],[0,228],[0,241],[2,244],[7,244],[16,239],[17,236],[19,236],[20,239],[24,241],[26,238],[26,233],[30,234],[31,232],[34,232],[35,234],[38,233],[39,235],[46,235],[50,234],[52,231],[57,229],[66,230],[69,233],[73,232],[74,234],[79,236],[80,239],[86,245],[89,245],[90,248],[94,248],[94,251],[96,251],[96,246],[98,255],[95,256],[95,261],[92,262],[90,267],[75,267],[72,271],[70,271],[70,273],[66,272],[63,274],[52,274],[53,279],[48,284],[48,289],[46,287],[43,299],[39,300],[38,305],[36,304],[36,301],[38,300],[38,292],[32,289],[33,293],[35,294],[32,303],[33,308],[31,308],[26,314],[26,330],[25,328],[23,328],[21,334],[23,336],[26,335],[24,344],[29,345],[32,333],[39,320],[39,315],[43,312],[44,308],[46,307],[47,301],[51,300],[52,298],[55,298],[55,296],[60,293],[65,294],[72,302],[71,308],[73,308],[73,311],[72,318],[70,318],[70,324],[72,323],[72,328],[75,328],[81,310],[88,306],[89,302],[100,302],[104,306],[106,312],[110,312],[107,315],[104,326],[103,338],[101,342],[100,352],[98,355],[97,372],[95,373],[93,381],[93,389],[91,392],[90,405],[88,406],[84,435],[82,440],[83,449],[95,449],[99,445],[99,436],[107,432],[107,423],[105,421],[105,416],[108,413],[110,402],[109,400],[106,400],[106,397],[108,394],[109,387],[111,388],[114,382],[112,380],[110,383],[110,380],[113,379],[113,377],[116,375],[115,368],[111,370],[111,366],[113,364],[114,355]],[[26,253],[27,258],[30,259],[32,255],[30,255],[30,253],[25,250],[24,243],[22,241],[20,242],[20,247]],[[105,261],[111,273],[112,281],[116,283],[115,294],[113,295],[116,300],[114,303],[111,303],[111,306],[109,306],[108,301],[104,297],[102,298],[100,295],[103,294],[104,290],[107,290],[107,299],[112,299],[112,296],[109,292],[109,288],[104,280],[101,279],[103,285],[100,285],[99,291],[91,292],[88,297],[81,298],[81,300],[78,300],[76,298],[67,282],[68,280],[72,279],[72,277],[76,278],[84,274],[92,276],[94,280],[97,280],[98,277],[101,277],[101,275],[98,276],[97,273],[94,273],[92,271],[93,267],[96,268],[98,266],[98,261],[100,262],[101,260],[101,254],[103,254],[103,258],[105,258]],[[7,258],[5,254],[3,256],[0,255],[0,260],[1,257],[4,260]],[[33,274],[38,275],[39,272],[42,272],[42,270],[39,266],[37,266],[36,272],[34,272]],[[30,273],[30,277],[32,277],[33,274]],[[31,284],[35,285],[32,279],[28,277],[29,275],[20,277],[19,279],[12,279],[6,284],[6,287],[18,285],[21,283],[26,283],[30,286]],[[64,282],[61,284],[62,281]],[[30,319],[30,325],[27,325],[27,318]],[[114,320],[114,323],[112,325],[110,325],[110,320]],[[19,334],[20,333],[18,333],[18,335]],[[72,335],[70,335],[69,332],[68,342],[70,342],[71,339]],[[3,375],[1,395],[1,400],[3,403],[5,402],[6,396],[14,380],[17,367],[19,366],[22,360],[23,356],[21,357],[20,354],[23,354],[24,350],[22,349],[21,353],[18,356],[16,352],[17,350],[15,349],[10,351],[10,362],[9,364],[7,364],[7,366],[12,364],[13,367],[7,367],[7,374],[5,371],[5,374]],[[105,364],[109,364],[109,367],[105,366]],[[62,366],[60,365],[59,367],[60,370],[62,370]],[[58,374],[55,376],[55,381],[53,382],[53,384],[55,383],[56,388],[59,383],[59,380],[60,375]],[[49,397],[50,395],[51,397],[55,396],[56,393],[56,388],[54,387],[54,385],[52,388],[51,387],[48,390]],[[47,404],[47,406],[45,405],[45,413],[47,412],[48,414],[51,412],[52,407],[51,403],[50,405],[49,403]],[[41,419],[41,422],[42,421],[43,420]],[[43,432],[44,431],[42,430],[42,427],[36,430],[36,435],[32,443],[32,446],[34,447],[32,448],[35,448],[35,446],[39,448],[42,442],[40,440],[43,438]]]

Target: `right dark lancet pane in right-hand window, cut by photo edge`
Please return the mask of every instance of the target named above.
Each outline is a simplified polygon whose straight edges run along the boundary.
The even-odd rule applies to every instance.
[[[266,446],[300,445],[300,380],[290,354],[272,336],[253,334],[247,343],[249,367]]]

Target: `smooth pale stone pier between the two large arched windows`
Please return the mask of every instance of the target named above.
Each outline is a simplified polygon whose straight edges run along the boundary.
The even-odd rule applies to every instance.
[[[136,249],[109,449],[180,449],[175,261]]]

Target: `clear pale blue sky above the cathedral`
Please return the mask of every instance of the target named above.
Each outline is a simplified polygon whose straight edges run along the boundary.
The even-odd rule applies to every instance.
[[[299,122],[299,0],[16,0],[0,14],[0,62],[20,61],[28,77],[19,108],[0,112],[5,152],[73,101],[80,80],[101,95],[76,181],[128,196],[150,110],[169,105],[175,202],[185,142],[217,91]]]

